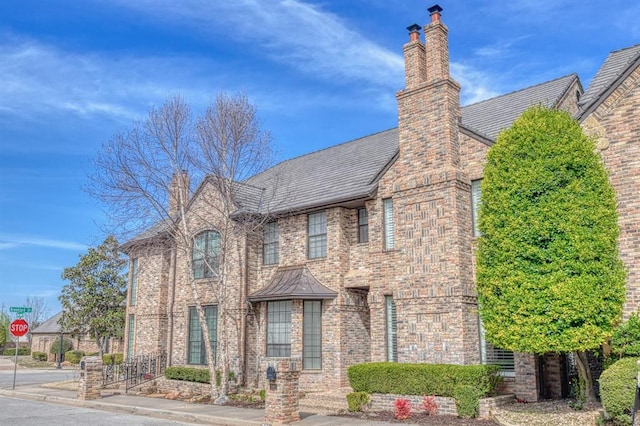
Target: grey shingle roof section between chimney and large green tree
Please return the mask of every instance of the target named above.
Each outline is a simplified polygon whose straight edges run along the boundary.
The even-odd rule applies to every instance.
[[[497,96],[462,108],[462,126],[495,141],[498,133],[511,124],[527,108],[542,105],[554,108],[564,97],[577,74],[570,74],[536,86]]]

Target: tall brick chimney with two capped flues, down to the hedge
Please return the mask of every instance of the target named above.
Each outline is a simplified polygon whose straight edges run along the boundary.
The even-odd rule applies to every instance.
[[[406,87],[397,93],[399,157],[394,164],[398,316],[432,327],[398,329],[402,362],[479,363],[473,283],[470,182],[460,161],[460,85],[449,75],[442,8],[429,8],[420,41],[404,45]],[[420,335],[416,342],[415,335]]]

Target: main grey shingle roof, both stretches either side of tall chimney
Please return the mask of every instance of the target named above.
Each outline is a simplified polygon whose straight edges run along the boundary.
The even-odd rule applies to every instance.
[[[571,74],[462,108],[462,125],[494,140],[531,105],[553,107],[577,79]],[[318,208],[368,198],[398,152],[398,129],[284,161],[247,181],[266,188],[261,213]],[[268,209],[268,211],[267,211]]]

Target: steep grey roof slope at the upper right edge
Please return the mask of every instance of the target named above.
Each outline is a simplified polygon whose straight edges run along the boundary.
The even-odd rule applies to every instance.
[[[580,117],[596,108],[640,63],[640,44],[611,52],[580,98]]]

